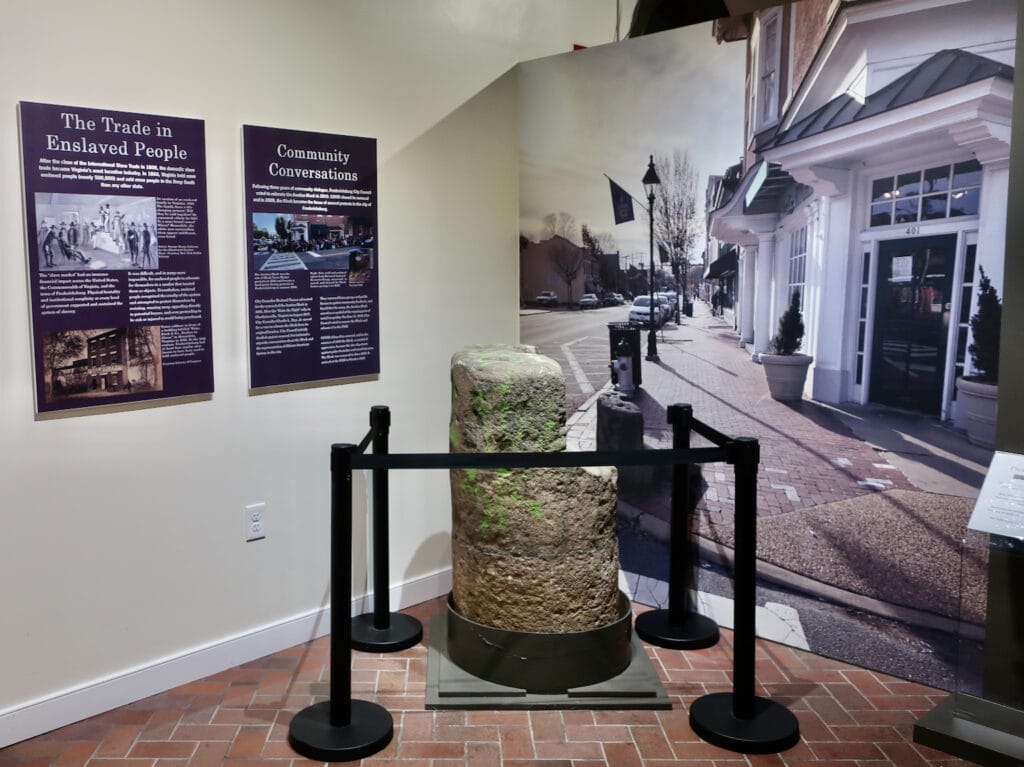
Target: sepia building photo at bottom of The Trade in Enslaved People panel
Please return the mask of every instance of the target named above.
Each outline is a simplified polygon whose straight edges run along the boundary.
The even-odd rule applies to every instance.
[[[47,403],[164,388],[160,327],[155,325],[46,333],[43,363]]]

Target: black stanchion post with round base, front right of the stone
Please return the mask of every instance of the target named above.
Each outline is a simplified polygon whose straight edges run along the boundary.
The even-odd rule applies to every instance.
[[[710,743],[741,754],[776,754],[800,741],[800,722],[781,704],[754,694],[757,599],[758,463],[756,439],[731,442],[736,474],[733,564],[732,692],[705,695],[690,706],[690,727]]]

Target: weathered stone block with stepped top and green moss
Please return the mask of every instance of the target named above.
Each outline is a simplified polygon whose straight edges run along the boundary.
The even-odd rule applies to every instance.
[[[453,453],[564,449],[565,384],[528,346],[452,360]],[[618,617],[613,469],[452,471],[453,596],[512,631],[574,632]]]

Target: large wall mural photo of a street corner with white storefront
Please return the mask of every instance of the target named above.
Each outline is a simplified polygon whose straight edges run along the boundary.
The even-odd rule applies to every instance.
[[[961,640],[985,623],[962,541],[992,449],[957,381],[1002,293],[1016,16],[802,0],[519,67],[520,340],[562,366],[568,449],[615,449],[609,396],[646,448],[673,403],[758,439],[759,634],[945,689],[977,681]],[[698,603],[729,626],[733,467],[701,475]],[[670,493],[621,475],[627,588],[657,606]]]

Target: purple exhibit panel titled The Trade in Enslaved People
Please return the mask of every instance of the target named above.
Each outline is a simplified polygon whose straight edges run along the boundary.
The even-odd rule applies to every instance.
[[[37,413],[212,392],[203,121],[19,115]]]

